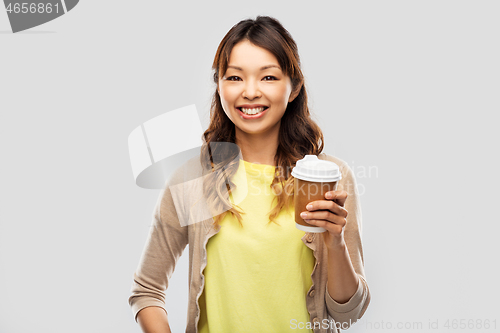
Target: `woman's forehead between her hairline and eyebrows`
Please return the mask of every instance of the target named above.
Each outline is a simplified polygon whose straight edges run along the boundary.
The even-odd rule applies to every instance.
[[[260,70],[263,67],[280,70],[278,59],[268,50],[256,46],[248,40],[239,42],[231,50],[228,69],[253,71]]]

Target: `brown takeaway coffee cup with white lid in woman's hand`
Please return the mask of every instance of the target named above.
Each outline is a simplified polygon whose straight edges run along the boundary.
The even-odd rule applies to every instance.
[[[337,189],[337,182],[342,179],[339,166],[320,160],[316,155],[306,155],[297,161],[292,176],[295,178],[295,226],[306,232],[325,232],[325,229],[305,222],[300,213],[307,211],[306,206],[311,201],[325,200],[326,192]]]

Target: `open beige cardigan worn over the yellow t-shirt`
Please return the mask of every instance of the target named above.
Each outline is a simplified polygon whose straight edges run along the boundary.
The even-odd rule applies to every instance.
[[[312,287],[307,293],[307,310],[311,316],[311,325],[315,333],[339,332],[336,326],[344,324],[347,328],[360,319],[370,303],[370,291],[363,269],[363,248],[361,244],[361,209],[356,180],[347,164],[330,155],[320,154],[320,159],[335,162],[342,172],[337,189],[348,192],[344,207],[349,212],[345,226],[344,239],[352,264],[359,276],[357,291],[351,299],[343,304],[333,300],[327,291],[327,249],[321,234],[306,233],[302,237],[304,244],[313,250],[316,263],[311,275]],[[210,237],[219,230],[212,227],[213,219],[205,219],[198,223],[186,225],[179,221],[183,209],[182,202],[172,195],[170,186],[180,184],[186,179],[202,176],[199,157],[188,161],[169,179],[160,193],[153,213],[153,225],[139,266],[134,273],[132,295],[129,304],[135,319],[137,313],[148,306],[159,306],[165,309],[165,290],[174,272],[177,260],[184,248],[189,244],[189,304],[187,314],[187,333],[198,332],[200,308],[198,298],[204,287],[203,269],[207,264],[206,244]],[[189,195],[189,193],[187,193]],[[174,203],[175,201],[175,203]],[[186,226],[181,226],[184,224]],[[169,300],[175,302],[175,300]],[[165,309],[166,311],[166,309]],[[304,323],[306,324],[306,323]],[[291,326],[292,327],[292,326]]]

